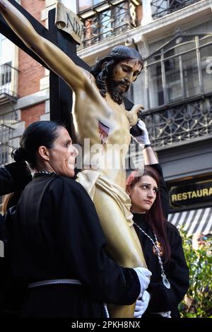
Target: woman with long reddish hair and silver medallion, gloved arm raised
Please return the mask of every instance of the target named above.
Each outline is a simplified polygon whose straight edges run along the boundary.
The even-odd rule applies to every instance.
[[[169,204],[162,169],[145,124],[140,120],[138,126],[142,134],[136,141],[143,145],[145,167],[143,174],[131,172],[126,192],[131,198],[134,227],[152,277],[148,289],[136,302],[134,316],[179,317],[177,305],[189,287],[189,269],[179,232],[167,222]]]

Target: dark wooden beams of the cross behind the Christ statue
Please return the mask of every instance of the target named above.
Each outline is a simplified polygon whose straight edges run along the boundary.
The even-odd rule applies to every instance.
[[[55,9],[49,11],[49,30],[45,28],[40,22],[38,22],[28,11],[26,11],[22,6],[20,6],[16,0],[8,0],[18,8],[20,13],[30,21],[33,25],[33,28],[44,38],[50,42],[57,45],[62,49],[78,66],[83,67],[86,70],[90,70],[90,67],[86,62],[76,55],[76,42],[73,40],[71,35],[67,34],[64,31],[61,31],[56,28],[54,25],[55,21]],[[2,35],[11,40],[15,45],[23,49],[25,53],[30,55],[37,62],[45,66],[46,69],[49,69],[47,64],[40,59],[33,51],[31,51],[20,38],[16,35],[15,32],[8,26],[4,18],[0,15],[0,32]],[[49,69],[50,70],[50,69]],[[62,78],[57,76],[50,70],[49,73],[49,100],[50,100],[50,119],[53,121],[61,121],[66,129],[69,131],[70,136],[73,139],[73,143],[76,142],[73,131],[73,121],[71,117],[71,108],[72,108],[72,90],[69,88],[69,85],[64,82]],[[131,109],[133,104],[124,98],[124,105],[126,109]]]

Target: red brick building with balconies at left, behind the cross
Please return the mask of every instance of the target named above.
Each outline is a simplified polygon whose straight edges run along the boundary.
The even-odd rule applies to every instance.
[[[17,2],[45,25],[41,16],[45,1]],[[0,165],[4,165],[11,161],[11,150],[18,146],[25,126],[45,114],[49,92],[45,68],[6,37],[0,37]]]

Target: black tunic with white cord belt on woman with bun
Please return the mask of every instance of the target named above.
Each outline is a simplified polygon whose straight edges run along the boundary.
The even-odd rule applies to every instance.
[[[10,212],[6,222],[16,278],[25,283],[71,278],[83,284],[30,288],[23,316],[100,317],[102,302],[136,300],[139,279],[106,256],[98,215],[81,184],[58,175],[36,177]]]

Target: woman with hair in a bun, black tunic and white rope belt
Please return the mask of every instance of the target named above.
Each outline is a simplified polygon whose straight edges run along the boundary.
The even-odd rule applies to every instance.
[[[149,283],[146,268],[122,268],[106,256],[93,202],[71,179],[76,155],[53,121],[30,124],[13,151],[35,172],[6,215],[13,275],[28,285],[25,317],[106,316],[103,302],[131,304]]]

